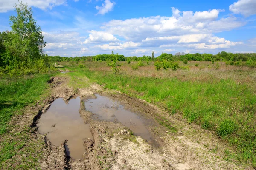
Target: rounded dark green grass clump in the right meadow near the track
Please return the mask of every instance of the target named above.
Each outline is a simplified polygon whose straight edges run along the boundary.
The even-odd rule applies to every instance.
[[[236,129],[236,122],[231,119],[225,119],[223,122],[220,123],[219,127],[217,128],[217,133],[221,137],[226,137],[235,132]]]

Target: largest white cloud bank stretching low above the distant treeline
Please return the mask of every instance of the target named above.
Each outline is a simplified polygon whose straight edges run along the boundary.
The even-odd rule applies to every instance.
[[[69,54],[67,51],[71,51],[70,54],[75,56],[106,54],[111,51],[128,56],[141,56],[151,54],[152,50],[166,53],[186,50],[193,53],[217,53],[220,50],[234,51],[245,46],[242,42],[232,42],[215,36],[215,33],[229,31],[245,24],[233,15],[219,18],[219,13],[224,10],[193,12],[180,11],[173,7],[171,10],[172,16],[169,17],[111,20],[102,23],[102,31],[89,31],[87,37],[80,37],[75,31],[44,32],[46,40],[51,43],[45,49],[59,51],[61,54]],[[253,46],[253,43],[248,43],[247,46],[249,44]]]

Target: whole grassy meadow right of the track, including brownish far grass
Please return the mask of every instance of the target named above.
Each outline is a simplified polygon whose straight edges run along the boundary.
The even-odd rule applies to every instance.
[[[218,63],[218,69],[216,63],[198,62],[200,67],[195,63],[186,64],[189,70],[156,71],[153,62],[136,70],[131,68],[136,62],[123,62],[119,74],[104,62],[70,68],[105,88],[145,99],[170,114],[181,113],[189,123],[215,131],[235,147],[238,152],[233,159],[256,166],[256,70],[224,62]]]

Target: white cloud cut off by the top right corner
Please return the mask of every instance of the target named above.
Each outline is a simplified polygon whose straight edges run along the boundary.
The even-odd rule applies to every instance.
[[[229,6],[229,10],[246,17],[254,15],[256,14],[256,0],[238,0]]]

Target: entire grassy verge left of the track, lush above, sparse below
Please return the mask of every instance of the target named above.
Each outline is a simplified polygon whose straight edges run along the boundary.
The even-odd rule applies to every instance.
[[[0,169],[33,169],[41,158],[43,141],[33,141],[30,127],[10,124],[26,106],[44,99],[48,74],[0,81]],[[25,122],[26,125],[26,122]],[[13,128],[16,128],[13,130]]]

